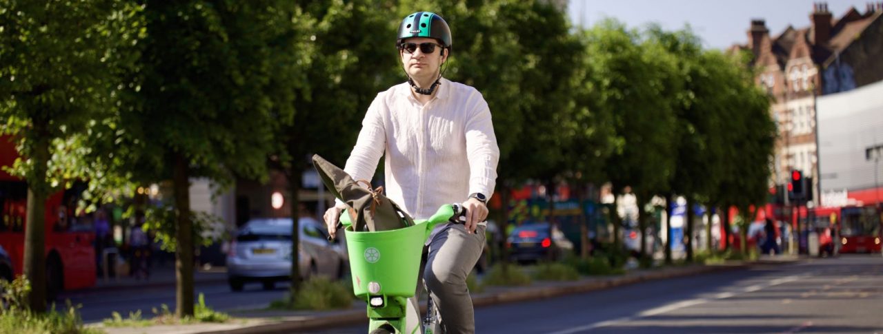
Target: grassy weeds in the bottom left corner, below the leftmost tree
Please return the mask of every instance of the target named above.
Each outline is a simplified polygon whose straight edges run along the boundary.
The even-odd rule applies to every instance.
[[[64,333],[64,334],[97,334],[102,330],[83,326],[79,317],[79,305],[71,305],[67,301],[66,311],[57,311],[55,304],[49,312],[37,314],[26,308],[27,295],[31,285],[27,278],[19,276],[12,282],[0,281],[3,303],[0,303],[0,333]]]

